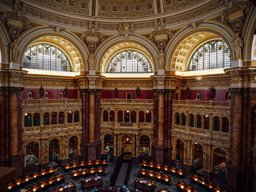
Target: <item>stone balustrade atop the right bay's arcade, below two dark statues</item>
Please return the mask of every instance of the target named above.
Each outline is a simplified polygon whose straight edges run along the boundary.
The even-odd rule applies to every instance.
[[[195,101],[195,100],[173,100],[173,105],[182,106],[207,106],[207,107],[220,107],[230,108],[230,102],[227,101]]]

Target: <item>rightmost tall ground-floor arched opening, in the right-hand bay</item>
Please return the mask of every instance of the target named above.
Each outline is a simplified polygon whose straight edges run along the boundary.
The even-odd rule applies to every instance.
[[[213,151],[214,172],[226,174],[227,154],[222,148],[216,148]]]

